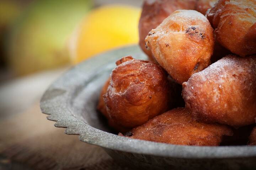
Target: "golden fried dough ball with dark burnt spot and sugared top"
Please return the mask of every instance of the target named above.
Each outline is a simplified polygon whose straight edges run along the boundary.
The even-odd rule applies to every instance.
[[[194,10],[177,10],[145,39],[156,61],[179,84],[209,66],[214,36],[209,21]]]

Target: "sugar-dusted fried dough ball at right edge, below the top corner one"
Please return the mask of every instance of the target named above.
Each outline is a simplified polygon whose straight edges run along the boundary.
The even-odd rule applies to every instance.
[[[228,55],[182,85],[186,107],[197,119],[234,127],[255,123],[256,56]]]

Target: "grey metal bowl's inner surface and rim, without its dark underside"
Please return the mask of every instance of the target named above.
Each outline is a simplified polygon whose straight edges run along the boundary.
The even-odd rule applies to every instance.
[[[45,92],[40,102],[42,112],[49,114],[49,120],[57,121],[56,127],[66,128],[67,134],[80,135],[81,141],[107,149],[175,158],[256,157],[254,146],[181,146],[115,135],[96,107],[101,88],[116,67],[115,62],[127,55],[147,58],[138,46],[130,46],[78,64]]]

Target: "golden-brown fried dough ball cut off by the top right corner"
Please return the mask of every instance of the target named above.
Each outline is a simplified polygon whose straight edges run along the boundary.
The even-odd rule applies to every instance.
[[[220,0],[207,13],[218,42],[242,57],[256,53],[255,6],[255,0]]]

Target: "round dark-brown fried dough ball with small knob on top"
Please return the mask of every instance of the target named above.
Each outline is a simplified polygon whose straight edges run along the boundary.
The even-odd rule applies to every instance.
[[[115,124],[134,128],[172,107],[167,74],[158,64],[131,56],[116,64],[103,95],[107,113]]]

